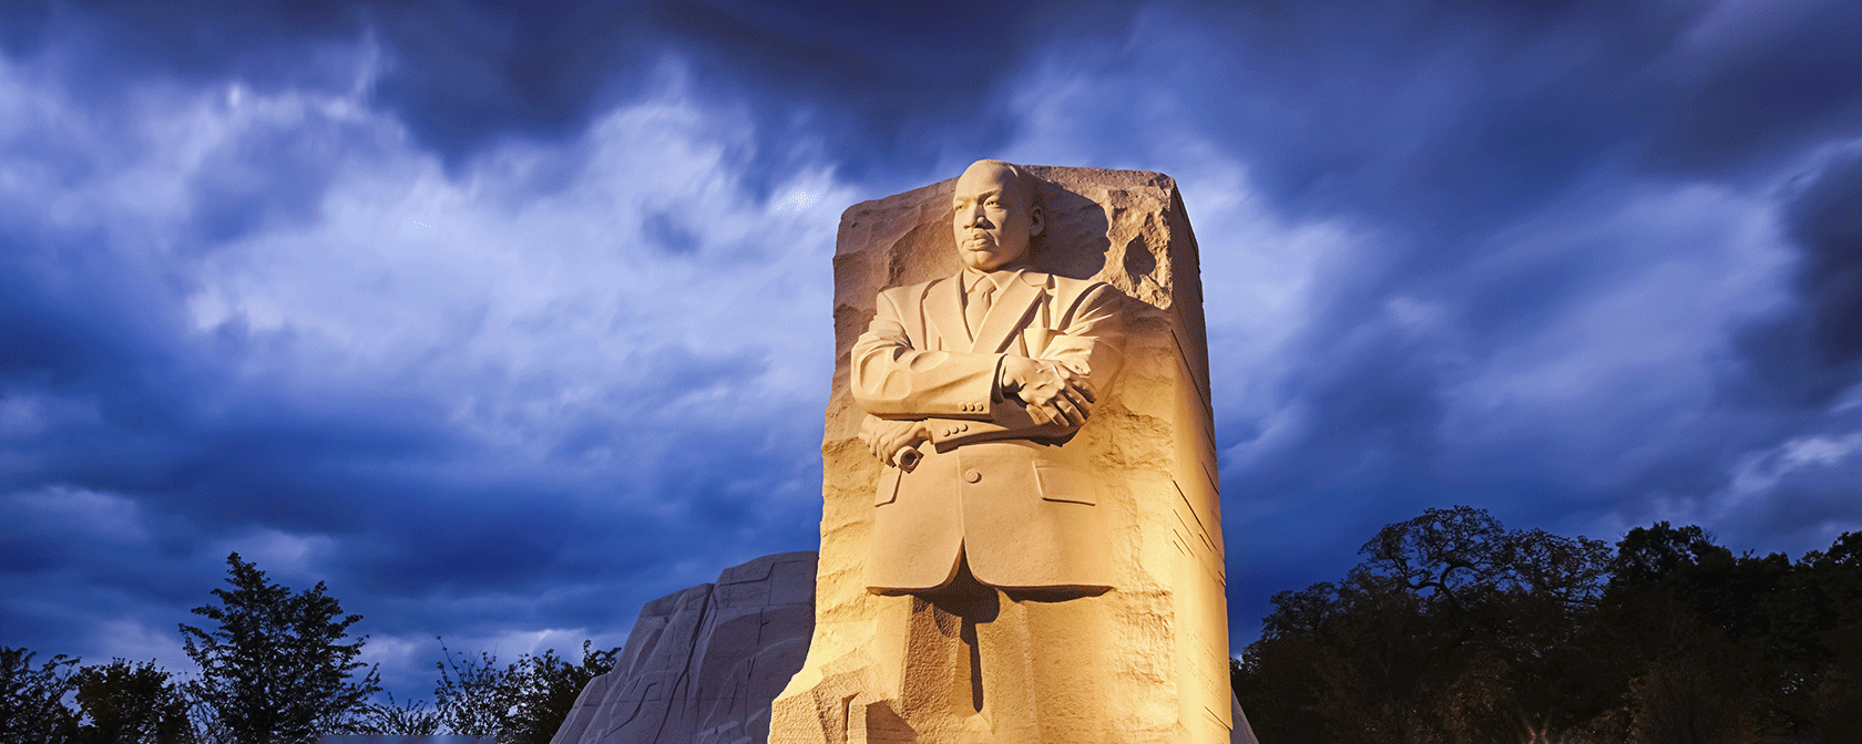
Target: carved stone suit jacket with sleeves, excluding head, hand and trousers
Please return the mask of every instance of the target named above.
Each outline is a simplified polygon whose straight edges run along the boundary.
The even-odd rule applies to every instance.
[[[1078,428],[1037,424],[996,376],[1007,353],[1052,359],[1086,376],[1102,409],[1125,353],[1123,296],[1039,272],[1002,285],[974,339],[961,277],[884,290],[853,346],[855,402],[931,428],[916,469],[879,476],[866,564],[875,593],[946,586],[959,560],[998,588],[1112,586],[1108,510],[1071,445]]]

